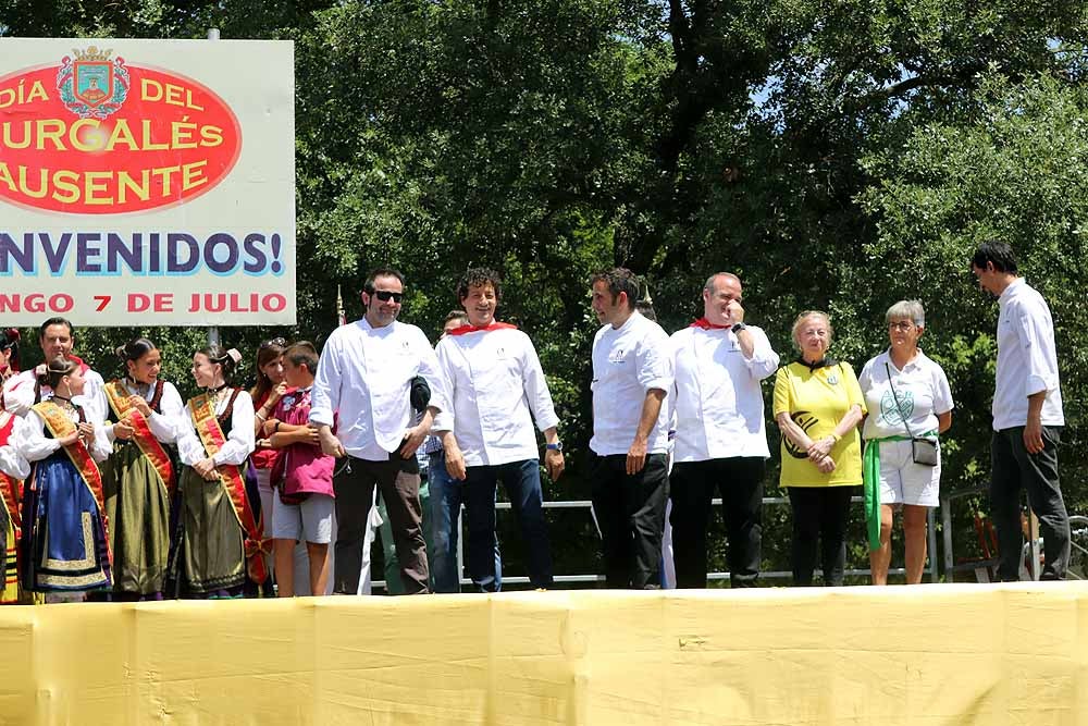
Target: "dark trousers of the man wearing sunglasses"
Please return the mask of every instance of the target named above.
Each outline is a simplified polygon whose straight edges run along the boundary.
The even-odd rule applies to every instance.
[[[336,571],[333,590],[356,594],[362,569],[362,547],[367,537],[374,487],[381,493],[393,525],[393,542],[400,563],[400,581],[406,594],[426,589],[426,542],[423,539],[419,502],[419,475],[404,470],[400,462],[369,462],[349,456],[333,477],[336,493]]]

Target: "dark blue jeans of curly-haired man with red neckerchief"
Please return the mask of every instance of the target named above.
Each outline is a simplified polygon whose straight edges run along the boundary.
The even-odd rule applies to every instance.
[[[465,480],[465,514],[469,522],[469,574],[483,591],[497,590],[492,546],[495,540],[495,489],[503,480],[521,527],[528,553],[529,579],[552,587],[552,552],[544,522],[541,468],[536,459],[493,466],[470,466]]]

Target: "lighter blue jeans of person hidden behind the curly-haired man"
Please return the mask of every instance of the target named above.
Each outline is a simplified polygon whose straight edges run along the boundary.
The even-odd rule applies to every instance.
[[[430,454],[430,514],[433,545],[431,558],[431,591],[460,592],[461,573],[457,567],[457,538],[460,533],[461,503],[465,482],[457,481],[446,471],[444,452]],[[494,496],[494,494],[492,495]],[[493,504],[494,506],[494,504]],[[503,586],[503,557],[498,550],[498,538],[492,527],[492,547],[495,552],[495,590]]]

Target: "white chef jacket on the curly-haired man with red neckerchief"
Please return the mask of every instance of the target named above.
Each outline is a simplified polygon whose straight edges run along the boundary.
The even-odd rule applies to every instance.
[[[447,335],[436,354],[453,407],[434,430],[454,432],[465,465],[539,458],[533,419],[545,431],[559,418],[529,336],[512,328]]]

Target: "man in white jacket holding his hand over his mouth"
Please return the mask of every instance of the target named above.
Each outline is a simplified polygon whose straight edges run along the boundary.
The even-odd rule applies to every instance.
[[[703,317],[672,334],[676,442],[669,496],[677,587],[706,587],[706,528],[715,490],[729,541],[729,581],[759,576],[767,431],[759,381],[778,369],[767,335],[744,323],[740,279],[710,275]]]

